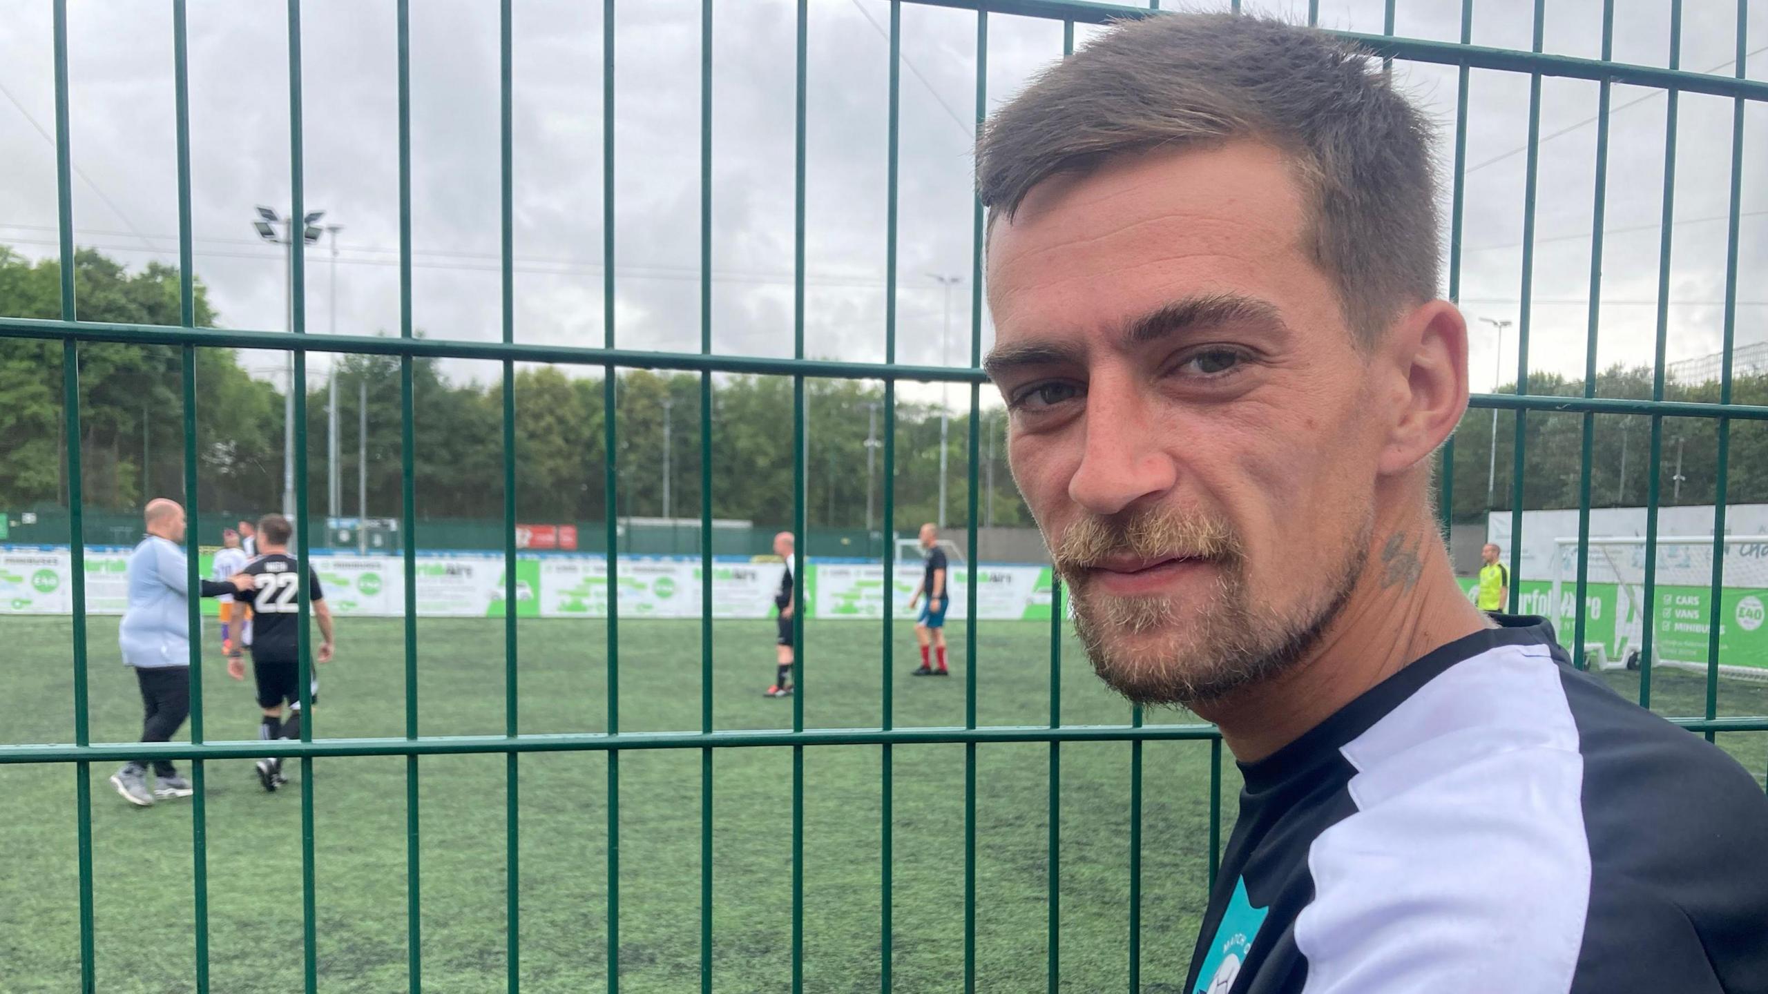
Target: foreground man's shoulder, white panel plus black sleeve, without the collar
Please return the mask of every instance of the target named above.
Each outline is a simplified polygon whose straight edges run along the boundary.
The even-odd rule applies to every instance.
[[[1706,990],[1713,948],[1759,944],[1754,778],[1547,646],[1452,665],[1342,753],[1356,812],[1310,847],[1296,925],[1310,990],[1582,992],[1612,962]]]

